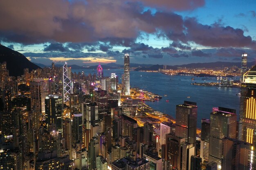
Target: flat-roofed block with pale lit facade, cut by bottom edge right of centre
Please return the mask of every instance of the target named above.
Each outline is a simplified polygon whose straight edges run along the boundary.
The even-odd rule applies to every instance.
[[[143,157],[150,162],[150,170],[162,170],[162,159],[157,155],[151,152],[146,152],[143,154]]]

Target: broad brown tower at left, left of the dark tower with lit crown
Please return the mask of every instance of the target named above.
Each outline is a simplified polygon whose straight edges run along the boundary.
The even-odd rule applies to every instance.
[[[45,97],[48,95],[48,79],[34,79],[29,83],[31,94],[31,110],[34,107],[42,119],[45,115]]]

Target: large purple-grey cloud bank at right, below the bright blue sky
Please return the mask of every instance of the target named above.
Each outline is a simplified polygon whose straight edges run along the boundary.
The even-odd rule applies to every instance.
[[[250,36],[243,35],[242,29],[219,24],[203,25],[195,18],[187,18],[184,22],[187,28],[186,37],[197,44],[211,47],[245,47],[252,43]]]

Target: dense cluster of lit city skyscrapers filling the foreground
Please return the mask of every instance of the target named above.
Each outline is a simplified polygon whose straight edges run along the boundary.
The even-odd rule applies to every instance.
[[[126,54],[121,86],[100,65],[94,75],[72,73],[65,63],[13,78],[1,64],[0,169],[256,168],[256,66],[243,73],[239,121],[236,110],[213,108],[198,137],[195,102],[177,105],[175,122],[138,124],[129,64]],[[20,104],[27,98],[30,104]]]

